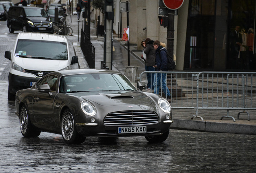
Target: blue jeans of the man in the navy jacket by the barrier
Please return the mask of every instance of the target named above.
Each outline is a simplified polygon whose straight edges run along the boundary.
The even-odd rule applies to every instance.
[[[154,93],[159,95],[159,88],[163,93],[165,93],[165,97],[171,96],[171,93],[166,84],[166,73],[156,73],[154,78]]]

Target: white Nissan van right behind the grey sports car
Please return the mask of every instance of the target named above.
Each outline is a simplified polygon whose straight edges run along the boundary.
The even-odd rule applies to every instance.
[[[66,36],[46,33],[19,33],[13,52],[5,51],[4,57],[11,60],[8,76],[8,100],[15,93],[31,88],[33,84],[53,71],[68,70],[78,57],[70,58]]]

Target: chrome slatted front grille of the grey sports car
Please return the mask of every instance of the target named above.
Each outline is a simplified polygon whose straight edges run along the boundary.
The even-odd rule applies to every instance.
[[[158,123],[158,116],[150,111],[124,111],[108,114],[104,119],[104,125],[149,125]]]

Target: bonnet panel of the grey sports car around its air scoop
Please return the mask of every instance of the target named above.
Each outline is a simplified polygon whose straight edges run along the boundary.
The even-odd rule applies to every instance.
[[[126,91],[118,93],[95,93],[95,95],[83,96],[83,99],[95,102],[102,106],[116,105],[151,105],[151,99],[142,92]]]

